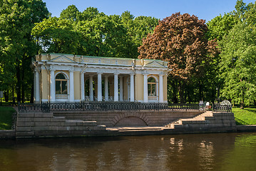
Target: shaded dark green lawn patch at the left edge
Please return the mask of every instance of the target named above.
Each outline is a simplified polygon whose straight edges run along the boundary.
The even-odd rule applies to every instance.
[[[11,130],[12,114],[14,112],[14,108],[0,106],[0,130]]]

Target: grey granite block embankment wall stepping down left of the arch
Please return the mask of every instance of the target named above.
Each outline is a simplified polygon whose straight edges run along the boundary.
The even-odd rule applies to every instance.
[[[96,121],[66,120],[53,113],[18,113],[16,138],[88,135],[106,130]]]

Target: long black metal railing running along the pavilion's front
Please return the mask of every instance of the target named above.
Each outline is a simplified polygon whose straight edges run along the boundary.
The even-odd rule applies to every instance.
[[[126,102],[81,102],[81,103],[23,103],[18,105],[19,112],[43,113],[66,110],[205,110],[199,104],[167,104],[167,103],[126,103]]]

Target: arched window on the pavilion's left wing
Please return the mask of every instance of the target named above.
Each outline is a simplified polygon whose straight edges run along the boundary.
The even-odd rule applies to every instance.
[[[63,73],[58,73],[55,78],[56,94],[68,94],[68,81]]]

